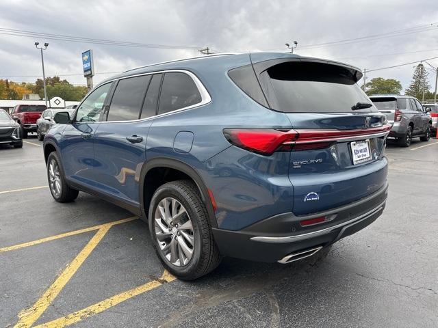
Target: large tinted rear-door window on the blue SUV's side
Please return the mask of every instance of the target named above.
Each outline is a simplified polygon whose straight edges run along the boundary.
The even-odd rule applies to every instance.
[[[138,120],[150,75],[118,81],[111,100],[108,121]]]

